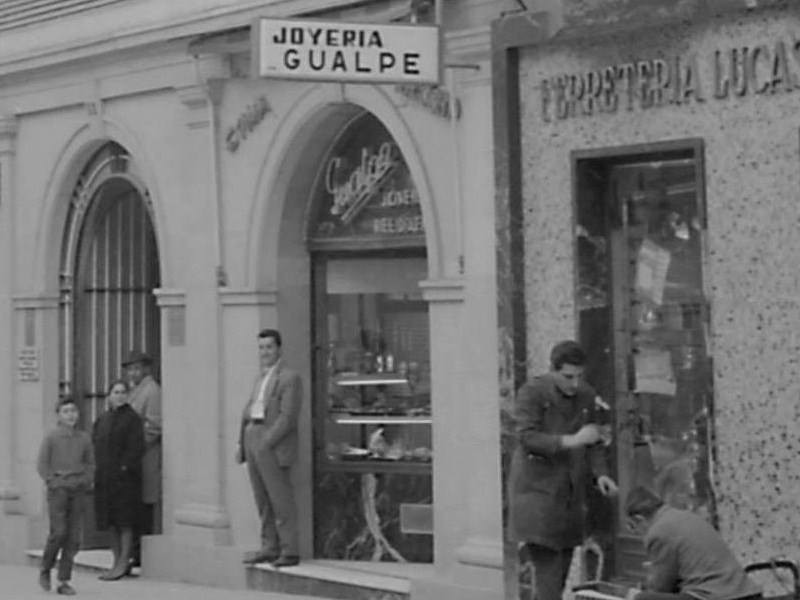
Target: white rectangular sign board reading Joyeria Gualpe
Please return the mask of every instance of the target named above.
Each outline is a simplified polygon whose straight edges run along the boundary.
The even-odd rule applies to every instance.
[[[253,31],[258,77],[372,83],[438,83],[436,25],[259,19]]]

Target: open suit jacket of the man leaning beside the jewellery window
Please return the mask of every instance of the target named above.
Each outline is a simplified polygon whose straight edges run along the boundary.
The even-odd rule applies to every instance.
[[[250,418],[250,405],[256,398],[263,375],[253,381],[250,397],[242,411],[239,428],[239,462],[244,462],[244,428]],[[278,464],[288,467],[297,459],[297,421],[303,397],[303,383],[292,369],[283,362],[275,365],[275,370],[264,391],[264,443],[275,453]]]

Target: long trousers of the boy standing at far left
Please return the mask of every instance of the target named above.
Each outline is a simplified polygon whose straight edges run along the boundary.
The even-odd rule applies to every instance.
[[[69,581],[72,563],[80,546],[83,513],[83,490],[54,488],[47,490],[47,507],[50,514],[50,535],[42,557],[42,571],[49,571],[58,562],[58,580]]]

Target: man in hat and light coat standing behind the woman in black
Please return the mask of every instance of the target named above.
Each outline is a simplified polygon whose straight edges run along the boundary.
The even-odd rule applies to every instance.
[[[129,401],[144,423],[142,518],[136,535],[134,564],[141,562],[140,537],[161,533],[161,387],[151,374],[153,359],[132,350],[122,366],[130,383]]]

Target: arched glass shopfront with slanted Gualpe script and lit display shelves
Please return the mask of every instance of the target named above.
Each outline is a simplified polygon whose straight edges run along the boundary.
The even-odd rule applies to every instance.
[[[314,554],[432,562],[422,210],[405,157],[358,111],[317,166],[312,270]]]

